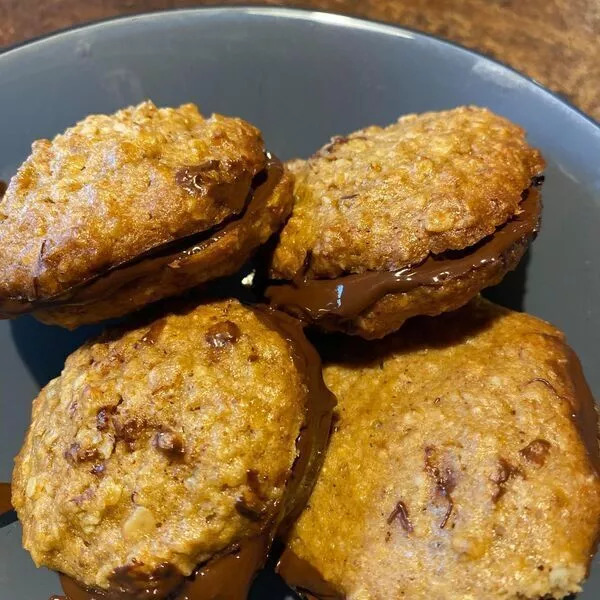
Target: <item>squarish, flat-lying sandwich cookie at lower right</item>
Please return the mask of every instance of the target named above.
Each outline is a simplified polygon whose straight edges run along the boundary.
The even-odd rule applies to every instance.
[[[600,531],[594,401],[554,327],[479,302],[355,340],[279,571],[319,599],[578,592]]]

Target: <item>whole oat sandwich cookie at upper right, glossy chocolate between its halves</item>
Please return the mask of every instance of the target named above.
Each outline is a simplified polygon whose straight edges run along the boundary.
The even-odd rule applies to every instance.
[[[271,263],[273,305],[382,337],[456,309],[514,269],[537,232],[544,162],[521,128],[462,107],[334,138],[296,174]]]

